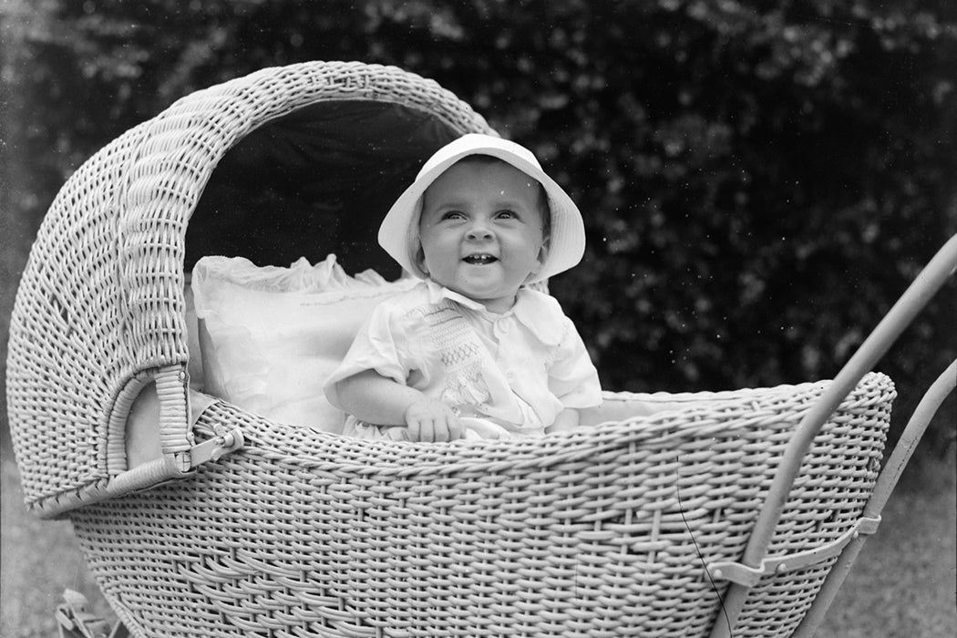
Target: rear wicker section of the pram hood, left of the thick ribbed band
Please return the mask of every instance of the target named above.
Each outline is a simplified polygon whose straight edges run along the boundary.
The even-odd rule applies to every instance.
[[[128,366],[111,204],[137,137],[127,132],[60,190],[17,291],[7,408],[28,505],[108,477],[104,408]]]

